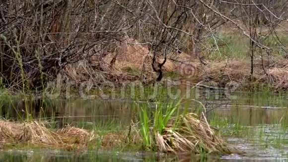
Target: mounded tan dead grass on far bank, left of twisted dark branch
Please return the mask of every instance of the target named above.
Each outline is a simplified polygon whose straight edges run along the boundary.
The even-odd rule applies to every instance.
[[[157,62],[162,63],[163,58]],[[116,44],[104,58],[91,56],[77,63],[69,64],[62,72],[62,81],[92,81],[94,84],[103,82],[122,83],[126,81],[146,81],[157,77],[153,71],[152,54],[146,45],[135,39],[127,38],[122,43]],[[162,67],[164,72],[174,72],[176,65],[167,60]]]

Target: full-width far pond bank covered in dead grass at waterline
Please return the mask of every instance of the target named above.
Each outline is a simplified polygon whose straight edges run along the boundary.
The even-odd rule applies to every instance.
[[[151,69],[150,62],[143,62],[144,56],[137,54],[142,61],[130,60],[130,55],[121,56],[121,63],[115,63],[113,68],[105,72],[94,71],[82,63],[68,66],[57,78],[43,82],[41,87],[29,85],[23,89],[15,89],[1,85],[1,91],[11,93],[55,93],[85,94],[86,91],[106,93],[107,91],[120,91],[125,86],[173,86],[180,89],[191,87],[232,88],[237,90],[270,90],[287,91],[288,89],[288,60],[283,56],[255,58],[253,65],[249,59],[222,59],[206,60],[205,63],[198,59],[181,54],[177,59],[168,58],[163,65],[161,81],[156,81],[159,73]],[[128,62],[123,62],[129,60]],[[160,59],[161,60],[161,59]],[[163,59],[162,59],[163,60]],[[89,65],[90,66],[90,65]],[[146,67],[146,68],[145,68]],[[92,92],[92,93],[93,93]],[[81,95],[80,94],[80,95]],[[93,94],[94,97],[99,95]]]

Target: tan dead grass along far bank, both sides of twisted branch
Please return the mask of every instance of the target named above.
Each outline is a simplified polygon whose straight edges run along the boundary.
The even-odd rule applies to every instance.
[[[127,38],[122,43],[116,44],[115,49],[100,60],[95,56],[90,60],[68,65],[62,78],[78,84],[83,81],[92,81],[94,85],[110,82],[121,86],[123,83],[133,81],[148,84],[157,78],[157,73],[151,67],[151,59],[152,54],[146,45]],[[158,58],[157,62],[163,62],[163,58]],[[193,59],[187,54],[179,54],[167,59],[163,71],[180,74],[179,80],[215,81],[221,87],[228,82],[236,81],[239,87],[265,86],[275,90],[288,89],[287,59],[280,56],[255,59],[252,81],[250,81],[250,67],[249,60],[208,61],[207,65],[203,65],[198,59]]]

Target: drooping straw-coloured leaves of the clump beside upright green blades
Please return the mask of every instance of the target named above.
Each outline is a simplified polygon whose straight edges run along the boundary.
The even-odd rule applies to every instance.
[[[215,134],[204,115],[198,118],[194,113],[172,118],[162,133],[155,133],[155,142],[160,152],[241,153]]]

